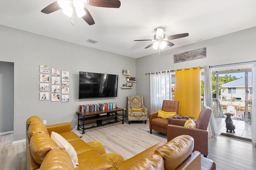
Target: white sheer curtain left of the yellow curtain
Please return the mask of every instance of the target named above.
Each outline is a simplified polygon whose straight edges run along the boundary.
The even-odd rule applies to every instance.
[[[162,108],[163,100],[172,100],[172,76],[170,71],[150,73],[150,111]]]

